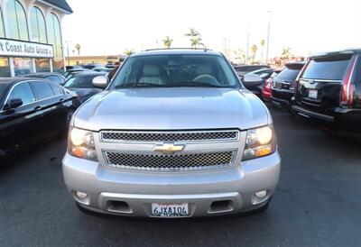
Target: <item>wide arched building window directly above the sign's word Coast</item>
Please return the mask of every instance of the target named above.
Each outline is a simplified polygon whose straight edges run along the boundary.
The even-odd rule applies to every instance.
[[[23,5],[16,0],[5,1],[9,37],[16,40],[29,41],[28,25]]]

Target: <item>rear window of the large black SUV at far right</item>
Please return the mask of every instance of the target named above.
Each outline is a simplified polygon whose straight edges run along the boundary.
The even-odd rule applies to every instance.
[[[338,56],[327,59],[311,59],[302,78],[342,80],[351,56]]]

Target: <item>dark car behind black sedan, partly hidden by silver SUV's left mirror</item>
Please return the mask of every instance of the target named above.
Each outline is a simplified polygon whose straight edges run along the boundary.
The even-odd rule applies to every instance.
[[[69,78],[65,82],[64,87],[76,92],[80,102],[83,103],[89,97],[102,91],[102,89],[93,86],[93,78],[105,75],[106,73],[104,72],[81,72]]]

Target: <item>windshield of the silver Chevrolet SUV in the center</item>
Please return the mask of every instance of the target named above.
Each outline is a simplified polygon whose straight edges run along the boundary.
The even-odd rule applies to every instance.
[[[134,56],[113,81],[111,88],[239,87],[226,59],[205,54]]]

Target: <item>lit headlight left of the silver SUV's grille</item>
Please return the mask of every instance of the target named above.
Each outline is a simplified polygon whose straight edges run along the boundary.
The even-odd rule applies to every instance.
[[[97,160],[94,135],[90,131],[70,128],[68,151],[71,155],[87,160]]]

